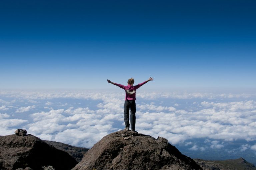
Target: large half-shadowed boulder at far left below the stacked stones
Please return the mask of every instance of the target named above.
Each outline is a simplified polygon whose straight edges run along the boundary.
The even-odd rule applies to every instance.
[[[13,134],[0,137],[0,169],[42,169],[48,165],[54,169],[71,169],[76,164],[77,161],[68,153],[36,136]]]

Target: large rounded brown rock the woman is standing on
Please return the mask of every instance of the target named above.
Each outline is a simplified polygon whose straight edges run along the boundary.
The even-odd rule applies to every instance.
[[[103,137],[75,169],[201,169],[167,139],[121,130]]]

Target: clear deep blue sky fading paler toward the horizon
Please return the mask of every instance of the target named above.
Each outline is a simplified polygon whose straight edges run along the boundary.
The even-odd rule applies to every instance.
[[[0,2],[0,88],[255,87],[256,1]],[[111,87],[112,88],[112,87]]]

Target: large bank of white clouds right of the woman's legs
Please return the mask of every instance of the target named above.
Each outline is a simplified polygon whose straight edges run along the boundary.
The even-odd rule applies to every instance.
[[[233,105],[242,108],[236,112],[230,111]],[[255,102],[230,102],[218,104],[220,109],[202,109],[196,112],[177,110],[174,114],[162,112],[146,112],[138,117],[137,122],[152,124],[152,130],[158,133],[166,130],[166,133],[184,134],[186,139],[205,138],[224,139],[233,141],[237,139],[255,140],[256,117],[250,109]],[[215,105],[211,103],[211,105]],[[224,107],[225,106],[225,107]],[[209,106],[207,106],[209,107]],[[248,110],[246,110],[248,109]],[[172,142],[173,139],[170,139]],[[182,139],[181,139],[182,140]],[[178,141],[180,142],[180,141]],[[224,147],[223,144],[212,144],[212,148]]]

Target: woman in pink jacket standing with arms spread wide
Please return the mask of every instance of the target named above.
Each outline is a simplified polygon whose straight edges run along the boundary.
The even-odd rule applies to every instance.
[[[122,89],[125,90],[125,102],[124,102],[124,123],[125,123],[125,129],[129,130],[130,123],[129,123],[129,109],[131,107],[131,129],[132,131],[135,131],[135,112],[136,112],[136,90],[140,88],[143,84],[146,84],[149,81],[152,81],[153,78],[150,77],[147,81],[144,81],[143,83],[140,83],[136,86],[133,86],[134,79],[130,78],[128,79],[127,86],[124,86],[122,84],[113,83],[109,79],[107,80],[108,83],[114,84]]]

